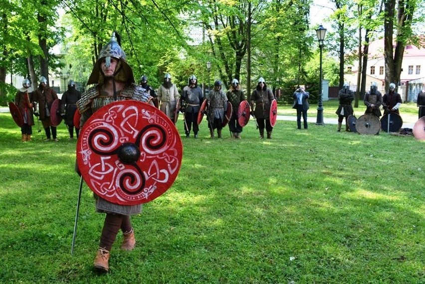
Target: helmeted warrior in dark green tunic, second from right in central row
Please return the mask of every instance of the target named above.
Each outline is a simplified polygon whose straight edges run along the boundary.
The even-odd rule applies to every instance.
[[[232,106],[232,114],[229,119],[229,130],[233,138],[240,139],[242,126],[239,125],[237,120],[237,110],[239,104],[246,100],[246,96],[240,89],[239,81],[236,78],[231,81],[230,90],[227,91],[227,98]]]

